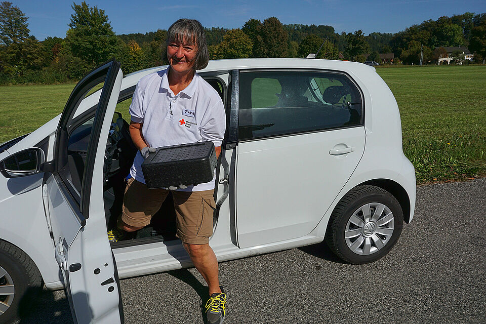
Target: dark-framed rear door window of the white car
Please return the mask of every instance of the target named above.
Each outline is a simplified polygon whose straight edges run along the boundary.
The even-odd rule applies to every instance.
[[[238,139],[362,125],[362,107],[360,91],[345,74],[242,72]]]

